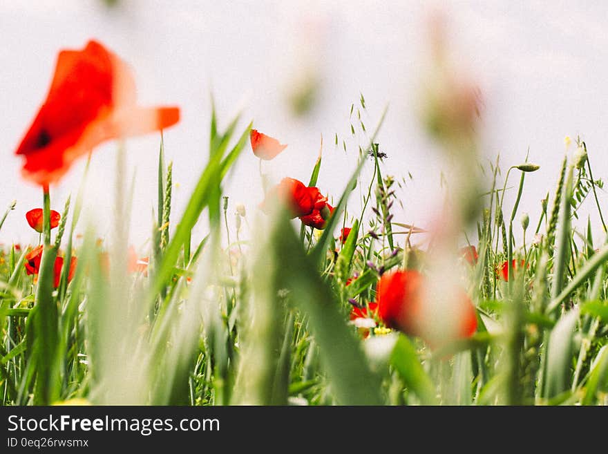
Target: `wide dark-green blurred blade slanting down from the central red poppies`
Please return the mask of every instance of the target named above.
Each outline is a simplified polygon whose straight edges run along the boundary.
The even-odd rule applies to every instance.
[[[309,320],[338,403],[382,404],[379,377],[368,367],[358,339],[339,312],[340,305],[332,290],[316,272],[316,262],[305,254],[285,216],[276,218],[270,244],[274,261],[281,264],[278,278],[290,292],[290,303]]]

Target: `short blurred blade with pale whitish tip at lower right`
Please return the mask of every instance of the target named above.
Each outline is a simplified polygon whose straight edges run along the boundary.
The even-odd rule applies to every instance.
[[[570,388],[573,337],[578,310],[573,309],[555,325],[547,344],[547,375],[544,377],[544,397],[551,399]]]

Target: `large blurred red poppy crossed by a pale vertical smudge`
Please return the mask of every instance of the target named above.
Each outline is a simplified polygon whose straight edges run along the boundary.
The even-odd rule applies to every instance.
[[[397,271],[383,274],[377,285],[377,302],[380,319],[389,328],[406,334],[426,337],[421,332],[422,311],[424,304],[424,276],[415,270]],[[462,304],[459,311],[461,319],[455,321],[458,326],[457,336],[471,337],[477,329],[477,316],[471,299],[464,290],[458,301]],[[431,339],[425,339],[430,341]]]

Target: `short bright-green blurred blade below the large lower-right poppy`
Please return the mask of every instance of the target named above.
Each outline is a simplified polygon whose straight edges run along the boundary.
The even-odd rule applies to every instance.
[[[422,404],[437,404],[433,381],[424,371],[416,349],[403,334],[399,334],[399,339],[392,350],[390,363],[406,386],[415,392]]]

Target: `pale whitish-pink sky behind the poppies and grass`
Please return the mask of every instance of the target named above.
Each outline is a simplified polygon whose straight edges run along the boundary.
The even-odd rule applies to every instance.
[[[482,162],[495,160],[500,152],[506,169],[522,162],[529,147],[530,160],[541,165],[527,178],[521,205],[535,225],[540,199],[555,185],[564,136],[580,134],[594,176],[607,175],[608,6],[596,1],[441,5],[456,60],[468,68],[484,95]],[[357,107],[363,93],[368,111],[362,119],[368,131],[390,104],[378,138],[389,156],[384,172],[400,178],[409,171],[413,176],[399,193],[404,209],[395,220],[424,227],[432,207],[438,206],[440,175],[448,165],[425,137],[415,109],[429,10],[427,1],[124,0],[108,8],[101,0],[1,0],[0,209],[15,198],[17,209],[0,240],[37,240],[24,214],[41,206],[41,193],[19,177],[21,160],[14,152],[44,100],[58,50],[82,48],[92,37],[133,66],[140,103],[182,108],[182,121],[164,136],[179,184],[173,220],[205,165],[211,93],[223,124],[242,111],[243,127],[252,119],[254,127],[289,144],[264,166],[275,180],[292,176],[306,182],[323,135],[318,185],[336,197],[354,167],[357,142],[349,139],[350,149],[344,153],[334,146],[334,135],[350,138],[350,106]],[[310,113],[297,116],[289,95],[309,75],[319,82],[318,102]],[[158,135],[127,142],[128,173],[136,178],[131,219],[135,245],[150,236],[158,146]],[[99,236],[111,233],[115,149],[109,143],[93,153],[88,180],[85,203]],[[51,189],[53,209],[61,211],[68,193],[75,194],[83,167],[80,162]],[[514,192],[507,194],[508,201]],[[249,216],[255,213],[263,192],[258,160],[249,147],[225,193],[231,212],[236,202],[244,202]],[[605,194],[600,197],[605,203]],[[351,203],[357,211],[356,196]],[[591,216],[599,225],[596,212]]]

